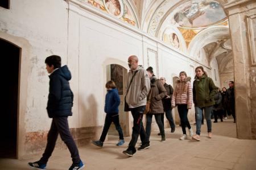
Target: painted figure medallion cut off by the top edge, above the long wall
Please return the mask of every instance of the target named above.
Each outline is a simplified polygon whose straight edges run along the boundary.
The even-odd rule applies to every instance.
[[[121,18],[123,16],[122,0],[104,0],[104,5],[109,14]]]

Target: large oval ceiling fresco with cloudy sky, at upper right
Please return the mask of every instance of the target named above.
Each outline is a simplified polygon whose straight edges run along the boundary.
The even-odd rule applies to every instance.
[[[226,20],[226,14],[217,1],[192,0],[182,3],[172,11],[173,24],[184,28],[202,28]]]

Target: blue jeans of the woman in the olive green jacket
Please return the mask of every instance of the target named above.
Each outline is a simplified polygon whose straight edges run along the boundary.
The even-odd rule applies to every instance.
[[[195,107],[196,111],[196,134],[200,135],[201,132],[201,121],[204,109],[204,117],[207,121],[207,130],[208,132],[212,132],[212,121],[210,120],[210,114],[212,112],[212,106],[208,107]]]

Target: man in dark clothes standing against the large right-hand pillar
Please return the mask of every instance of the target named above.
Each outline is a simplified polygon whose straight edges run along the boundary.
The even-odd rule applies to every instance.
[[[234,123],[236,123],[236,113],[235,113],[235,98],[234,98],[234,81],[229,81],[229,88],[226,90],[228,93],[228,114],[232,114],[234,118]]]

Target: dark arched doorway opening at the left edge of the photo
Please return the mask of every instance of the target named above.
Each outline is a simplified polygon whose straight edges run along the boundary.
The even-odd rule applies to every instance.
[[[2,114],[0,157],[17,157],[17,115],[20,48],[3,39],[1,47]]]

